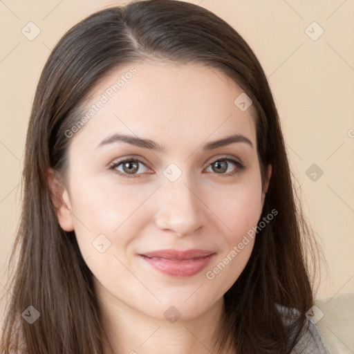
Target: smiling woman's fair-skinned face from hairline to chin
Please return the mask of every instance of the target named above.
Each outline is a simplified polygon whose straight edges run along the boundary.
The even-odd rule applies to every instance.
[[[91,92],[84,126],[67,134],[58,218],[112,309],[165,319],[174,306],[191,319],[241,274],[264,197],[253,107],[234,103],[242,92],[201,64],[152,60]]]

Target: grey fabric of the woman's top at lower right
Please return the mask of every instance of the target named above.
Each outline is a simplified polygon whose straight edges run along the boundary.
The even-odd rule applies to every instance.
[[[277,308],[283,316],[283,322],[286,324],[290,324],[292,322],[292,319],[294,319],[297,316],[297,313],[299,313],[294,308],[286,308],[285,306],[281,305],[277,305]],[[311,309],[308,313],[310,312]],[[304,332],[302,333],[295,348],[292,350],[292,353],[329,354],[326,343],[324,342],[324,338],[322,337],[319,328],[317,328],[316,326],[316,322],[313,321],[310,315],[307,315],[306,317],[307,319],[305,323]]]

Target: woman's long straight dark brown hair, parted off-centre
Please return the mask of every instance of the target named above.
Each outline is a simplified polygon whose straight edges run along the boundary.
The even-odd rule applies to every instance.
[[[285,354],[306,327],[314,297],[309,274],[315,274],[306,254],[318,254],[317,243],[295,194],[279,116],[257,57],[236,30],[200,6],[134,1],[96,12],[71,28],[41,73],[28,125],[1,353],[97,354],[106,348],[93,274],[75,232],[59,226],[46,172],[52,168],[64,174],[71,142],[65,132],[77,122],[98,80],[146,56],[200,63],[234,80],[256,112],[263,185],[266,167],[272,165],[260,221],[273,209],[279,214],[261,228],[250,260],[224,295],[226,316],[215,343],[240,354]],[[277,304],[297,311],[290,324],[283,322]],[[21,315],[28,306],[40,313],[33,324]]]

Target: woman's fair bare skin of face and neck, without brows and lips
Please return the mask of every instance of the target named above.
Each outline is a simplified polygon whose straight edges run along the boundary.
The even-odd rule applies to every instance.
[[[59,223],[75,230],[117,353],[214,353],[223,295],[248,262],[254,240],[214,279],[206,272],[257,225],[265,196],[253,107],[241,111],[234,100],[243,91],[215,69],[146,59],[111,72],[91,91],[86,109],[131,67],[136,74],[71,138],[65,183],[53,188]],[[97,147],[113,133],[148,138],[165,150],[126,142]],[[208,142],[236,133],[253,147],[236,142],[203,151]],[[212,162],[225,167],[225,154],[245,168],[228,162],[218,173]],[[135,177],[120,176],[122,165],[109,169],[124,157],[142,160]],[[174,182],[163,174],[171,163],[181,171]],[[60,185],[51,176],[50,185]],[[103,253],[92,244],[100,234],[111,242]],[[192,277],[163,274],[138,256],[169,248],[216,256]],[[170,306],[180,313],[174,323],[164,316]]]

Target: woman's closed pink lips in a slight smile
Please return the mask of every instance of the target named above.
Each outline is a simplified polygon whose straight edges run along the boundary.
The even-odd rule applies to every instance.
[[[160,250],[140,256],[160,272],[174,277],[192,277],[207,266],[214,254],[207,250]]]

